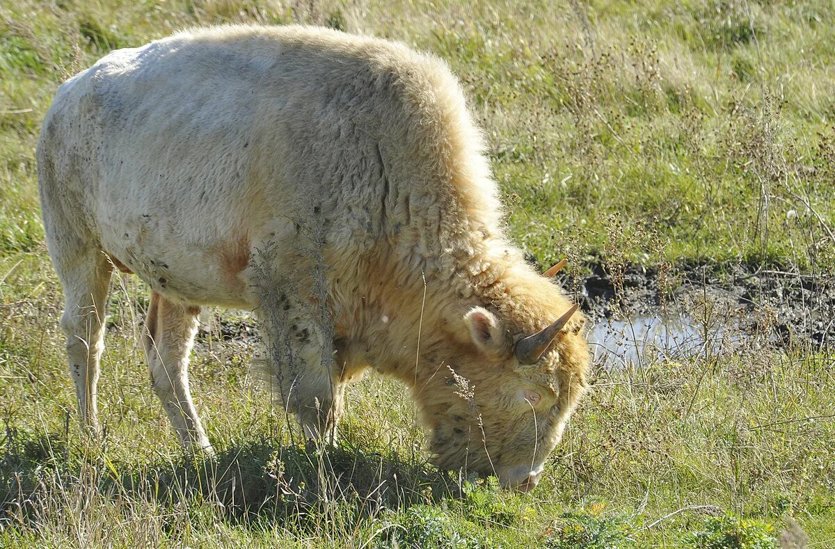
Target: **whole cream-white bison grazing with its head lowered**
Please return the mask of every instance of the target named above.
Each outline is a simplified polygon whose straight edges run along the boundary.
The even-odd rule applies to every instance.
[[[150,287],[151,385],[190,449],[202,305],[255,311],[306,436],[373,367],[411,388],[438,466],[520,490],[586,390],[583,315],[504,235],[457,80],[402,44],[227,26],[114,51],[58,89],[38,179],[91,431],[114,269]]]

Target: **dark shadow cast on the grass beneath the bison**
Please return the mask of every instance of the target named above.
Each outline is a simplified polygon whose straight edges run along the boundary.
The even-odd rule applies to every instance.
[[[260,438],[220,451],[138,466],[109,461],[104,452],[69,445],[63,434],[23,436],[0,443],[0,521],[27,521],[38,492],[92,490],[117,501],[163,508],[210,506],[230,524],[292,523],[315,527],[328,509],[361,519],[382,509],[462,496],[462,480],[419,457],[367,451],[349,442],[324,448]],[[87,499],[84,497],[83,499]]]

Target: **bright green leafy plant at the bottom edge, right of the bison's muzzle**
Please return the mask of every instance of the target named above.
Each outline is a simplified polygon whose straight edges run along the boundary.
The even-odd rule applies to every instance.
[[[762,521],[741,519],[726,513],[711,516],[701,531],[686,537],[696,549],[777,549],[774,526]]]

